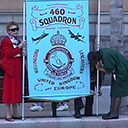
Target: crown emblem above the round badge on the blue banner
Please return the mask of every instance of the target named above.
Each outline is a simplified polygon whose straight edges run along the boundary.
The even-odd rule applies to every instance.
[[[52,46],[56,46],[56,45],[65,46],[67,39],[65,38],[65,36],[60,34],[59,31],[57,31],[57,34],[55,34],[51,37],[50,42],[51,42]]]

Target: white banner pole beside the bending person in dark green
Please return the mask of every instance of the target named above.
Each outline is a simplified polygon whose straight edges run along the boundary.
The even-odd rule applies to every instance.
[[[98,0],[98,35],[97,51],[100,49],[100,0]],[[97,70],[97,88],[96,88],[96,115],[99,115],[99,70]]]

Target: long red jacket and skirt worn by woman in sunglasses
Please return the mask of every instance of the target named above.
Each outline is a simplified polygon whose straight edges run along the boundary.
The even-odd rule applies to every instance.
[[[20,48],[14,48],[9,37],[1,42],[1,61],[4,73],[3,103],[21,103],[22,101],[22,58]]]

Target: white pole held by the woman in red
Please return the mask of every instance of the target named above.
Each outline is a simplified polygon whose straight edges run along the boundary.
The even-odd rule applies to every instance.
[[[23,1],[23,41],[25,41],[25,0]],[[25,50],[25,48],[23,48]],[[22,120],[24,120],[24,87],[25,86],[25,56],[23,56],[23,76],[22,76]]]

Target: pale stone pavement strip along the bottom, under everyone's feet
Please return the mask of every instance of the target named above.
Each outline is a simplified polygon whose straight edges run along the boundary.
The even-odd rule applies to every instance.
[[[101,117],[42,117],[26,118],[24,121],[8,123],[0,120],[0,128],[128,128],[128,116],[122,115],[116,120],[102,120]]]

